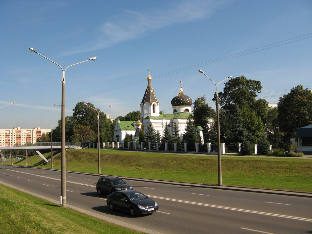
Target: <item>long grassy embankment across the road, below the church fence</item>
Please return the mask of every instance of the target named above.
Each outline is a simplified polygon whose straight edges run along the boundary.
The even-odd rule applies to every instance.
[[[45,154],[46,158],[50,153]],[[39,156],[28,158],[28,166],[42,165]],[[6,162],[10,164],[10,162]],[[16,160],[25,165],[25,159]],[[61,168],[61,155],[53,158]],[[66,151],[66,170],[98,172],[97,149]],[[162,154],[101,149],[101,173],[125,177],[217,184],[217,157]],[[306,158],[242,158],[222,156],[222,184],[253,188],[312,192],[312,160]]]

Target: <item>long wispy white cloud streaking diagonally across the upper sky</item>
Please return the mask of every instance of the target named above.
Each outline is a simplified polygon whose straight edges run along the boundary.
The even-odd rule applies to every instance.
[[[124,10],[100,27],[100,35],[93,46],[79,46],[66,51],[63,55],[105,49],[115,44],[148,35],[149,32],[169,25],[192,22],[210,17],[212,12],[223,5],[224,1],[178,1],[162,9],[147,12]]]

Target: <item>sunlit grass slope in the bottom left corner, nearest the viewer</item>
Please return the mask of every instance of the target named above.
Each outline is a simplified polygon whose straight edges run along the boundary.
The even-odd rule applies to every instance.
[[[0,194],[0,233],[142,233],[3,185],[0,185]]]

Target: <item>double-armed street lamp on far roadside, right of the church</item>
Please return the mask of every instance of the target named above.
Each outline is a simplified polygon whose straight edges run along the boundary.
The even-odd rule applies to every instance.
[[[207,76],[202,70],[198,70],[200,73]],[[207,76],[208,77],[208,76]],[[209,77],[208,77],[209,78]],[[227,77],[227,79],[232,78],[232,76]],[[224,79],[224,80],[227,80]],[[216,105],[217,105],[217,137],[218,137],[218,183],[222,185],[222,169],[221,169],[221,139],[220,139],[220,118],[219,118],[219,94],[218,94],[218,85],[224,80],[216,84],[212,79],[209,78],[216,85]]]

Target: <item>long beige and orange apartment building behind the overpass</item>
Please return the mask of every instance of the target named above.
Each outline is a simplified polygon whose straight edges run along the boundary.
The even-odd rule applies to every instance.
[[[13,129],[0,129],[0,147],[20,146],[25,143],[36,143],[37,138],[41,138],[41,134],[50,133],[51,129],[21,129],[13,127]]]

